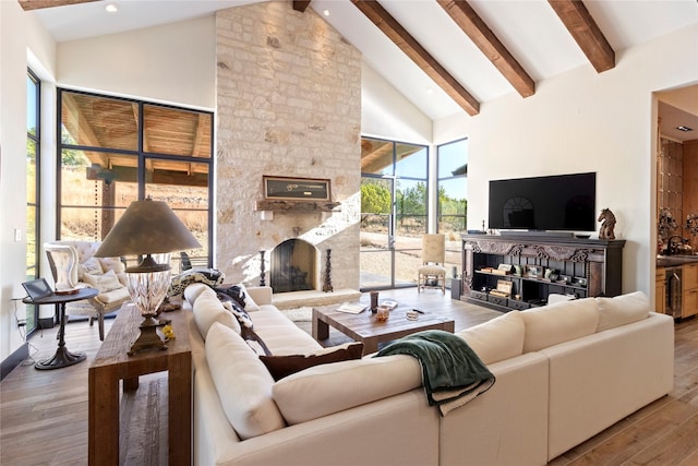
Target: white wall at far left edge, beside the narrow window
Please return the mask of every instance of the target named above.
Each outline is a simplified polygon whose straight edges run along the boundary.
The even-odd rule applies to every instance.
[[[0,360],[22,345],[14,298],[25,296],[26,272],[26,70],[27,50],[50,79],[55,44],[16,1],[0,1]],[[50,87],[50,83],[49,83]],[[14,230],[21,240],[14,240]],[[19,303],[20,315],[24,308]]]

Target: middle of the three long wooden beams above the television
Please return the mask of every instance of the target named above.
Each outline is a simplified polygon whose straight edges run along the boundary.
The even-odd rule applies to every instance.
[[[535,94],[535,82],[466,0],[436,0],[500,73],[522,96]]]

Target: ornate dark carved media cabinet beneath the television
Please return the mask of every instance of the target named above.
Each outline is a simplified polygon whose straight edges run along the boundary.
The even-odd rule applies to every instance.
[[[550,294],[616,296],[622,292],[624,246],[625,240],[462,235],[464,299],[508,311],[545,304]],[[500,264],[517,272],[501,275]],[[509,297],[490,292],[500,280],[512,282]]]

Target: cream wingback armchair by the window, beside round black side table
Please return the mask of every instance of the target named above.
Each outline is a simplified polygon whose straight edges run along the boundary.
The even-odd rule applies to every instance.
[[[105,339],[105,314],[130,299],[124,266],[119,258],[95,258],[99,242],[51,241],[44,243],[56,289],[97,288],[99,295],[65,304],[69,315],[97,318],[99,339]]]

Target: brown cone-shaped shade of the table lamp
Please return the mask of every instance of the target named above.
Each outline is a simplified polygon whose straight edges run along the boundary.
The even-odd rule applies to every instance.
[[[134,201],[104,239],[95,256],[158,254],[201,248],[172,210],[163,201]]]

